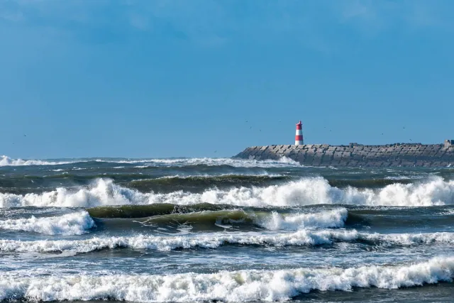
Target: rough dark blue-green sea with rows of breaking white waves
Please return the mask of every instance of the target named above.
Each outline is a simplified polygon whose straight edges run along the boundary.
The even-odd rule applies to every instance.
[[[454,168],[0,157],[0,301],[453,302]]]

